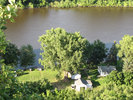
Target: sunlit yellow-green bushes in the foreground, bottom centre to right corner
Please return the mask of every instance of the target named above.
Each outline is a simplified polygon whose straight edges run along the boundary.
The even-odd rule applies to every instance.
[[[76,93],[71,90],[55,90],[53,93],[48,92],[44,97],[46,100],[126,100],[133,98],[133,88],[109,83],[95,91],[86,90]]]

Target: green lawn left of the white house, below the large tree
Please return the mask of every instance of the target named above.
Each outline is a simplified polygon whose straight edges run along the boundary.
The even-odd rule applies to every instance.
[[[18,76],[17,80],[19,82],[26,82],[26,81],[38,81],[41,80],[43,78],[48,79],[50,81],[50,83],[57,89],[71,89],[71,84],[74,84],[74,80],[72,79],[68,79],[68,82],[64,82],[63,80],[63,75],[64,73],[62,73],[62,80],[57,81],[56,80],[56,74],[57,71],[52,71],[50,69],[47,70],[43,70],[43,71],[38,71],[37,69],[35,69],[34,71],[25,71],[25,75],[22,76]]]

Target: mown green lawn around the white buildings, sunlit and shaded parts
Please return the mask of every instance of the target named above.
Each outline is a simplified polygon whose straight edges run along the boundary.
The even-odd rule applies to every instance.
[[[93,83],[93,89],[99,89],[101,85],[105,84],[104,77],[100,78],[97,77],[99,75],[97,69],[89,69],[86,72]],[[48,79],[51,82],[51,84],[57,89],[66,89],[66,88],[71,89],[71,84],[74,84],[74,80],[69,78],[68,82],[64,82],[62,77],[60,81],[57,81],[55,77],[56,74],[57,71],[52,71],[50,69],[43,71],[38,71],[37,69],[35,69],[34,71],[31,72],[27,70],[25,71],[25,75],[18,76],[17,80],[20,82],[26,82],[26,81],[38,81],[45,78]],[[63,75],[64,73],[62,73],[62,76]],[[89,79],[84,70],[81,70],[81,78],[84,80]]]

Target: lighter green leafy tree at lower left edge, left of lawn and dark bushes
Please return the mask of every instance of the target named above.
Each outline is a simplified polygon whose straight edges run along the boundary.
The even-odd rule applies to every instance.
[[[16,85],[14,73],[11,73],[11,66],[3,64],[0,72],[0,100],[10,99],[10,94],[15,90]]]

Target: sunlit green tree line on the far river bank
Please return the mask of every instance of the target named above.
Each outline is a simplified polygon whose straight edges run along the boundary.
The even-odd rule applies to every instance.
[[[30,7],[133,7],[133,0],[12,0],[21,9]],[[8,0],[1,0],[0,4],[7,5]]]

